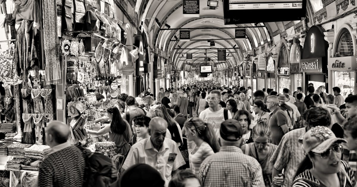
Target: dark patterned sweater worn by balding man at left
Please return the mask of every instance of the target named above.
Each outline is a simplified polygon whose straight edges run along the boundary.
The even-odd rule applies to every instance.
[[[85,159],[74,145],[50,154],[39,169],[38,187],[83,186]]]

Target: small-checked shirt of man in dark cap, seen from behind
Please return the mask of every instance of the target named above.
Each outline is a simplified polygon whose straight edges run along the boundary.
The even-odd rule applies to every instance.
[[[257,160],[234,146],[223,146],[207,157],[198,176],[202,187],[265,187]]]

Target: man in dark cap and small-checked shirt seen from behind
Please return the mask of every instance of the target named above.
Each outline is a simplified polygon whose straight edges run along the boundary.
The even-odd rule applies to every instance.
[[[243,154],[242,128],[235,119],[223,121],[220,128],[220,151],[201,164],[199,178],[202,187],[259,186],[264,187],[262,168],[258,161]],[[223,185],[224,184],[224,185]]]

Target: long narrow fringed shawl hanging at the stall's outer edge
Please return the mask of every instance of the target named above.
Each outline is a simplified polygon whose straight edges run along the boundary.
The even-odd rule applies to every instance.
[[[57,35],[57,10],[56,0],[45,0],[43,2],[43,33],[45,49],[45,80],[47,84],[61,82],[59,42]]]

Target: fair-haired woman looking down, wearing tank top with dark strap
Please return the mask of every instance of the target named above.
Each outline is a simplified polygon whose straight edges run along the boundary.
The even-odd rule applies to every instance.
[[[269,142],[270,128],[264,121],[258,121],[253,127],[252,137],[254,142],[243,144],[241,149],[246,155],[257,159],[262,167],[265,186],[270,187],[272,184],[271,179],[273,169],[273,164],[270,162],[270,158],[278,146]]]

